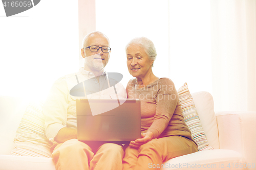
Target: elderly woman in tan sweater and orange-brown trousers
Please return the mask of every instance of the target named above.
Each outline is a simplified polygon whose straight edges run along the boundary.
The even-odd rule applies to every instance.
[[[173,81],[153,74],[157,55],[153,42],[134,38],[125,50],[128,70],[135,77],[127,84],[127,95],[141,101],[141,138],[125,149],[123,169],[160,169],[170,158],[197,152]]]

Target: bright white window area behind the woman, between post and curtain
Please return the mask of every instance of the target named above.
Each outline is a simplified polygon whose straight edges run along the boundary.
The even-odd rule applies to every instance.
[[[177,89],[187,82],[191,92],[212,91],[208,0],[96,0],[96,30],[110,38],[106,68],[123,74],[124,86],[133,78],[127,71],[124,46],[145,36],[156,46],[156,76],[172,79]]]

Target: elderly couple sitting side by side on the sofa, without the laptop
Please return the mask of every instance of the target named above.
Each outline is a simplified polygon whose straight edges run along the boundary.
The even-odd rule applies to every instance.
[[[184,123],[173,81],[153,74],[157,55],[153,42],[145,37],[134,38],[125,51],[127,68],[134,79],[129,81],[126,91],[118,83],[116,93],[119,98],[146,96],[140,99],[141,138],[124,147],[77,140],[75,98],[70,89],[91,78],[96,78],[99,88],[107,83],[104,67],[110,58],[110,41],[103,33],[92,32],[82,42],[84,67],[55,81],[44,106],[46,136],[53,142],[51,151],[56,169],[154,169],[150,165],[197,151],[197,144]],[[108,93],[111,91],[94,93],[91,98],[110,99]]]

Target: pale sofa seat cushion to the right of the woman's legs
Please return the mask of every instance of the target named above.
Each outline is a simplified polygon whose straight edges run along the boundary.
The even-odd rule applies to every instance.
[[[240,166],[242,168],[239,168]],[[232,150],[207,150],[179,156],[163,163],[161,170],[170,169],[247,169],[243,156]],[[237,167],[236,167],[237,166]],[[245,166],[245,167],[244,167]]]

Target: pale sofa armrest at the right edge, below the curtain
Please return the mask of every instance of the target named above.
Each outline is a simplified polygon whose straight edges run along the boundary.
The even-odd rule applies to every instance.
[[[218,112],[216,118],[220,149],[237,151],[256,164],[256,112]]]

